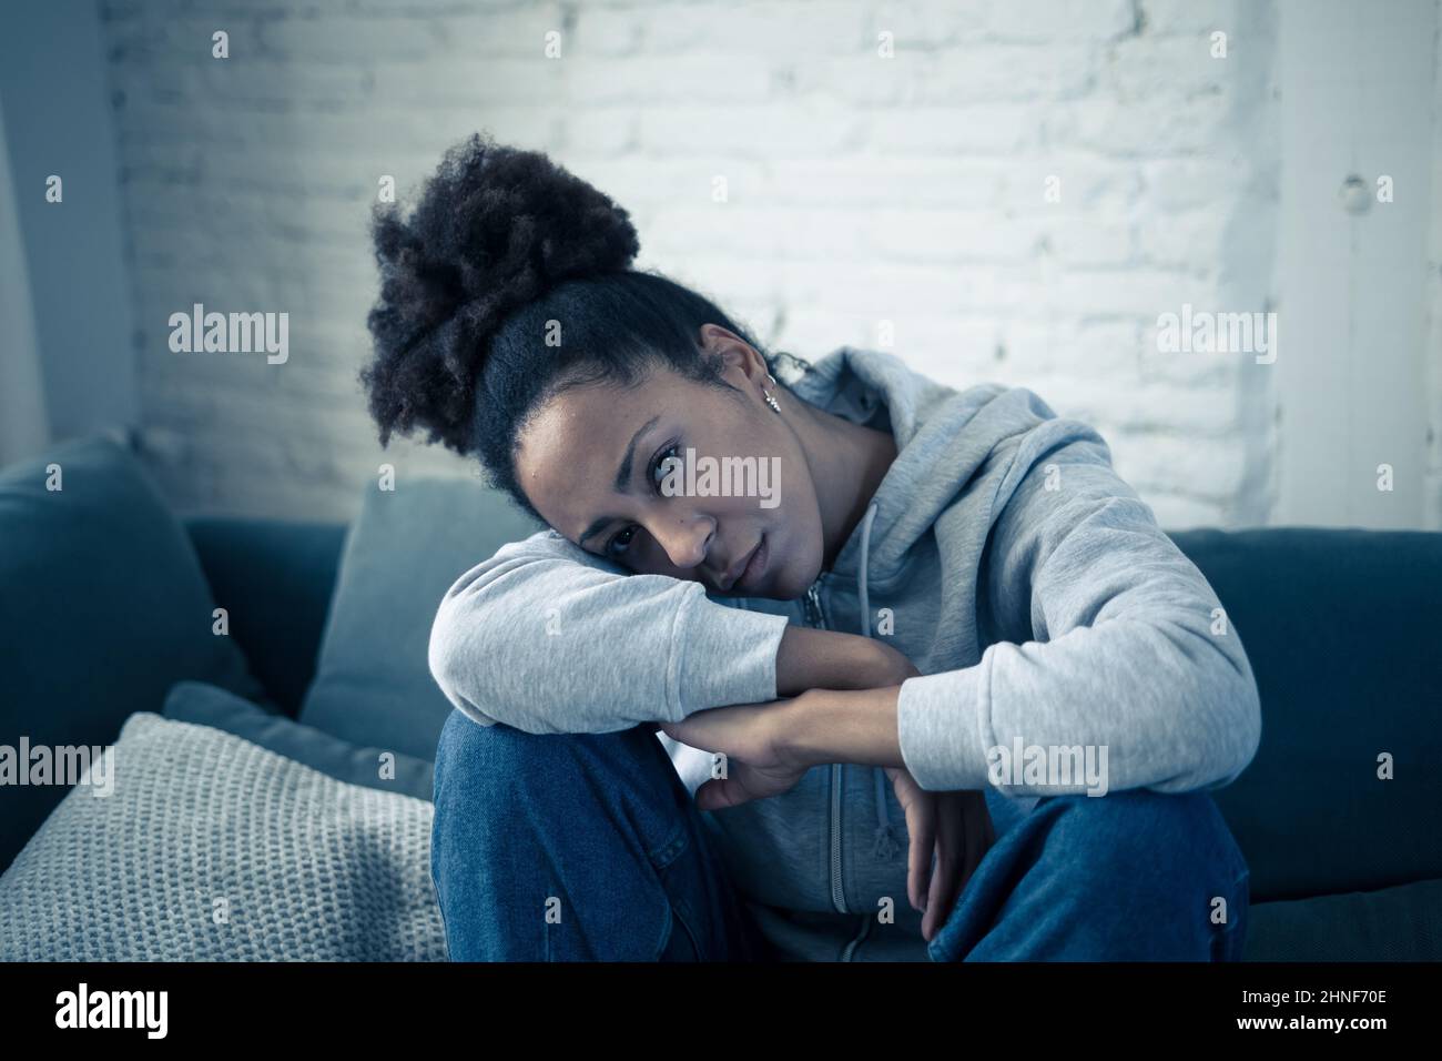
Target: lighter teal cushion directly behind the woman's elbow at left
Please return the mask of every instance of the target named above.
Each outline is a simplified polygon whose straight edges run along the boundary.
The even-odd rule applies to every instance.
[[[451,712],[428,663],[435,609],[456,579],[538,530],[505,494],[472,479],[372,485],[346,538],[300,720],[434,761]]]

